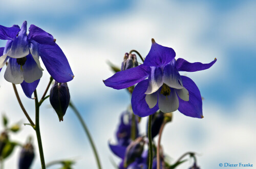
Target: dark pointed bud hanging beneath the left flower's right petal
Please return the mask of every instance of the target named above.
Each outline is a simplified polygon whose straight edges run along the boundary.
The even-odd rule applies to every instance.
[[[58,83],[55,81],[50,91],[50,103],[56,111],[59,121],[63,121],[63,116],[69,106],[70,94],[67,83]]]

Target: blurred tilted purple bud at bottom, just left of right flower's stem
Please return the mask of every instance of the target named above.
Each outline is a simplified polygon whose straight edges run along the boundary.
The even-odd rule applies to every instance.
[[[137,157],[140,157],[144,149],[143,137],[135,139],[125,151],[123,166],[127,167],[129,164],[135,161]]]

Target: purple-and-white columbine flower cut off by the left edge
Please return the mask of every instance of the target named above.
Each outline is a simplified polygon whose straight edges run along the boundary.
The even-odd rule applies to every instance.
[[[5,27],[0,25],[0,39],[7,40],[0,48],[0,70],[9,59],[5,79],[14,84],[23,84],[27,97],[38,85],[42,76],[39,56],[47,71],[58,82],[68,82],[74,75],[69,62],[53,36],[31,24],[27,35],[27,21],[21,28],[18,25]],[[31,93],[31,91],[33,91]]]

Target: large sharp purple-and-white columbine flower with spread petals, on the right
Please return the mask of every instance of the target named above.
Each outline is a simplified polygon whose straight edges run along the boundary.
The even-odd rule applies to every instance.
[[[162,112],[179,110],[194,118],[203,118],[202,98],[195,82],[179,71],[195,72],[205,70],[215,64],[189,63],[184,59],[175,60],[175,51],[164,47],[152,39],[150,52],[142,65],[117,72],[103,80],[105,86],[125,89],[135,85],[132,94],[132,108],[135,115],[145,117]]]

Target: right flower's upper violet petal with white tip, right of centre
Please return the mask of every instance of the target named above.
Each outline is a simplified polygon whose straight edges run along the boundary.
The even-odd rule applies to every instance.
[[[173,63],[165,65],[163,70],[163,82],[171,88],[182,89],[182,80],[179,72],[175,69]]]

